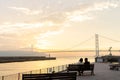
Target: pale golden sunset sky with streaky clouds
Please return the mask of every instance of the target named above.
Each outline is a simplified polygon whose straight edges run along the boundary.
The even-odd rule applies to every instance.
[[[0,50],[94,49],[95,34],[119,49],[119,30],[120,0],[0,0]]]

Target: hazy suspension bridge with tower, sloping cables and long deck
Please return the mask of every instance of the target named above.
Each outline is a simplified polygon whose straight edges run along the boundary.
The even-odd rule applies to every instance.
[[[118,43],[120,43],[119,40],[95,34],[95,36],[91,36],[84,41],[76,42],[75,45],[69,48],[63,50],[49,49],[47,52],[96,52],[96,56],[99,56],[99,52],[107,52],[109,47],[114,48],[112,52],[120,52]],[[115,46],[116,44],[117,47]],[[87,49],[84,47],[87,47]]]

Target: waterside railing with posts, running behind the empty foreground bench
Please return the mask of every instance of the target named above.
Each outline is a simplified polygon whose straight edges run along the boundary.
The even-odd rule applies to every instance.
[[[45,68],[45,69],[39,69],[39,70],[32,70],[28,72],[23,72],[23,73],[17,73],[17,74],[12,74],[12,75],[7,75],[7,76],[0,76],[0,80],[22,80],[22,74],[41,74],[41,73],[52,73],[53,71],[55,72],[60,72],[64,71],[67,68],[66,65],[60,65],[60,66],[55,66],[55,67],[50,67],[50,68]]]

